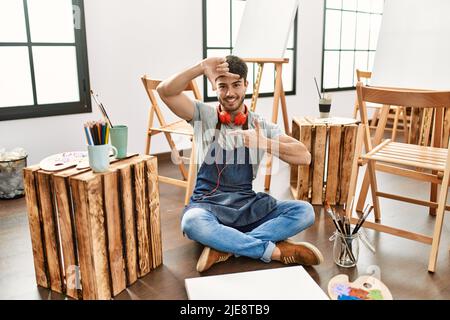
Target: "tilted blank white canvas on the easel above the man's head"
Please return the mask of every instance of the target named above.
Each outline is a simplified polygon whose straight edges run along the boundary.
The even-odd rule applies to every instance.
[[[247,0],[233,54],[283,58],[298,0]]]

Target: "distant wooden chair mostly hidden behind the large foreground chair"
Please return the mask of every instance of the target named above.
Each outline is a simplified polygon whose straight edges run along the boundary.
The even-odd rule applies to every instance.
[[[364,80],[369,80],[372,77],[372,72],[369,71],[362,71],[359,69],[356,69],[356,78],[358,79],[358,82],[363,82]],[[367,84],[367,83],[366,83]],[[382,106],[377,104],[367,104],[368,109],[374,109],[372,120],[370,121],[370,129],[375,130],[377,128],[377,123],[379,121],[380,117],[380,111]],[[357,118],[358,116],[358,98],[355,99],[355,108],[353,109],[353,118]],[[400,119],[400,114],[402,115],[402,129],[403,136],[405,139],[405,142],[408,142],[409,137],[409,121],[408,121],[408,115],[407,115],[407,109],[403,106],[391,106],[389,110],[389,116],[388,116],[388,122],[392,123],[392,128],[386,128],[386,131],[392,130],[391,134],[391,140],[395,141],[397,138],[397,131],[399,130],[398,124]]]

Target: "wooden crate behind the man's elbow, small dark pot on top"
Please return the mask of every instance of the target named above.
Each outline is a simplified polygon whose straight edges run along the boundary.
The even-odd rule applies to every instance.
[[[350,185],[357,124],[351,119],[329,123],[294,117],[292,137],[311,152],[311,164],[291,166],[290,185],[295,199],[322,205],[343,205]]]

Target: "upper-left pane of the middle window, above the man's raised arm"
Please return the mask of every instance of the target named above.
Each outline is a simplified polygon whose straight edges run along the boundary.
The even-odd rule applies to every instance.
[[[206,3],[206,33],[208,47],[229,47],[230,1],[208,0]]]

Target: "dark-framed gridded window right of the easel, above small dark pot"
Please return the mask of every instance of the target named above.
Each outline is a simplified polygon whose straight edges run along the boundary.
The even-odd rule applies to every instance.
[[[325,0],[322,91],[353,90],[372,71],[384,0]]]

